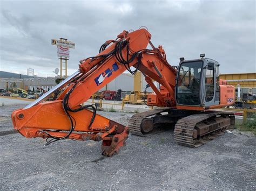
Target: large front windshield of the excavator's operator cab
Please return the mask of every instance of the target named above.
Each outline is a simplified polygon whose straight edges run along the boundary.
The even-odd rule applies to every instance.
[[[177,103],[199,105],[200,76],[203,61],[183,62],[180,65],[177,84]]]

